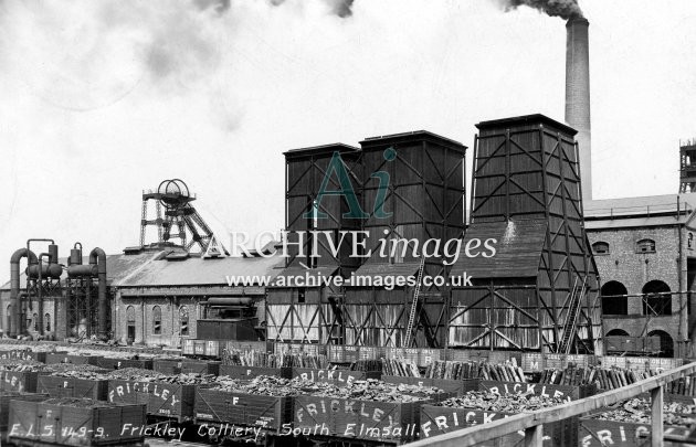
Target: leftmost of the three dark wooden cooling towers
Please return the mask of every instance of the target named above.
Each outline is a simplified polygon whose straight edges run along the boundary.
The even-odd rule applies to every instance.
[[[337,160],[336,157],[339,159]],[[350,257],[350,238],[338,246],[338,256],[324,237],[305,237],[302,245],[297,232],[329,232],[336,236],[345,230],[359,230],[360,220],[347,219],[348,203],[340,195],[326,194],[319,199],[324,185],[327,191],[338,191],[341,172],[331,167],[339,162],[341,172],[349,175],[355,193],[360,194],[360,149],[333,143],[285,152],[285,230],[291,232],[288,257],[285,269],[276,278],[308,275],[314,278],[334,275],[347,276],[360,259]],[[327,179],[327,183],[323,184]],[[335,240],[336,241],[336,240]],[[314,246],[316,244],[317,246]],[[318,256],[312,257],[315,252]],[[329,287],[271,287],[266,299],[268,340],[297,342],[342,343],[345,322],[340,311],[344,291]]]

